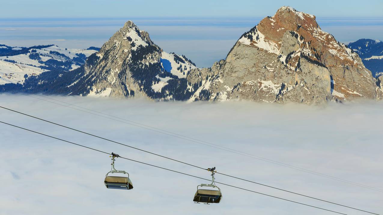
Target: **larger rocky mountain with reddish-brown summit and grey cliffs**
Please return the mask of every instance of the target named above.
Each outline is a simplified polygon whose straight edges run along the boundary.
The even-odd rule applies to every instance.
[[[209,95],[218,101],[306,104],[379,99],[376,81],[360,57],[322,31],[315,16],[291,7],[280,8],[244,33],[219,65],[214,72],[205,69],[211,77],[196,91],[203,95],[193,99]]]

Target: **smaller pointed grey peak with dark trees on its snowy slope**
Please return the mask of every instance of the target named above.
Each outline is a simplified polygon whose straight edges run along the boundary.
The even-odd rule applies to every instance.
[[[146,31],[127,21],[88,58],[79,71],[81,81],[74,80],[68,90],[90,96],[189,98],[185,77],[194,68],[187,57],[164,52]]]

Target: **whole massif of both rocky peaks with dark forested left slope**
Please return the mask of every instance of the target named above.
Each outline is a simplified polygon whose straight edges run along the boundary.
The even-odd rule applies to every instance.
[[[211,68],[197,68],[184,55],[164,52],[128,21],[81,67],[43,72],[0,90],[314,104],[381,99],[382,83],[357,53],[322,31],[314,15],[282,7],[242,34],[226,59]]]

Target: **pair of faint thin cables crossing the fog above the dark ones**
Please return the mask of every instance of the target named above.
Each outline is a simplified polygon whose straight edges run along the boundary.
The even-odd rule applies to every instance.
[[[300,167],[297,167],[297,166],[293,166],[293,165],[289,165],[289,164],[286,164],[286,163],[282,163],[282,162],[279,162],[279,161],[270,160],[268,158],[263,158],[263,157],[260,157],[260,156],[252,155],[252,154],[249,154],[249,153],[246,153],[246,152],[243,152],[243,151],[238,151],[238,150],[235,150],[235,149],[232,149],[232,148],[223,147],[223,146],[220,146],[220,145],[217,145],[217,144],[214,144],[214,143],[205,142],[203,140],[198,140],[198,139],[195,139],[195,138],[187,137],[187,136],[180,135],[180,134],[177,134],[177,133],[169,132],[167,130],[158,129],[158,128],[155,128],[155,127],[151,127],[149,125],[144,125],[144,124],[141,124],[141,123],[138,123],[138,122],[134,122],[134,121],[130,121],[130,120],[127,120],[127,119],[123,119],[123,118],[120,118],[120,117],[115,117],[115,116],[112,116],[112,115],[109,115],[109,114],[105,114],[105,113],[102,113],[102,112],[93,111],[92,109],[83,108],[81,106],[77,106],[77,105],[74,105],[74,104],[66,103],[66,102],[63,102],[63,101],[60,101],[60,100],[57,100],[57,99],[49,98],[47,96],[42,96],[42,95],[38,95],[38,94],[35,94],[35,93],[30,93],[30,94],[34,94],[36,96],[41,96],[41,97],[44,97],[44,98],[52,99],[54,101],[59,101],[61,103],[65,103],[65,104],[69,104],[69,105],[76,106],[76,107],[79,107],[79,108],[87,109],[89,111],[97,112],[97,113],[100,113],[100,114],[103,114],[103,115],[106,115],[106,116],[115,117],[116,119],[113,119],[113,118],[110,118],[110,117],[106,117],[106,116],[102,116],[102,115],[99,115],[99,114],[95,114],[95,113],[92,113],[92,112],[84,111],[84,110],[81,110],[81,109],[73,108],[73,107],[70,107],[70,106],[63,105],[63,104],[55,103],[55,102],[52,102],[52,101],[48,101],[46,99],[37,98],[37,97],[31,96],[31,95],[28,95],[28,94],[25,94],[25,93],[20,93],[20,92],[17,92],[17,91],[12,91],[12,92],[19,93],[19,94],[22,94],[22,95],[25,95],[25,96],[29,96],[31,98],[39,99],[39,100],[42,100],[42,101],[46,101],[46,102],[49,102],[49,103],[57,104],[57,105],[60,105],[60,106],[64,106],[64,107],[67,107],[67,108],[75,109],[75,110],[78,110],[78,111],[82,111],[82,112],[85,112],[85,113],[88,113],[88,114],[93,114],[95,116],[100,116],[100,117],[104,117],[106,119],[111,119],[111,120],[114,120],[114,121],[122,122],[122,123],[129,124],[129,125],[133,125],[133,126],[140,127],[140,128],[143,128],[143,129],[151,130],[151,131],[154,131],[154,132],[158,132],[160,134],[165,134],[165,135],[169,135],[169,136],[172,136],[172,137],[176,137],[176,138],[180,138],[180,139],[183,139],[183,140],[187,140],[187,141],[190,141],[190,142],[199,143],[199,144],[206,145],[206,146],[209,146],[209,147],[217,148],[217,149],[220,149],[220,150],[229,151],[231,153],[235,153],[235,154],[238,154],[238,155],[247,156],[247,157],[250,157],[250,158],[257,159],[257,160],[262,160],[262,161],[265,161],[265,162],[268,162],[268,163],[273,163],[273,164],[284,166],[284,167],[287,167],[287,168],[299,170],[299,171],[302,171],[302,172],[305,172],[305,173],[314,174],[314,175],[321,176],[321,177],[328,178],[328,179],[332,179],[332,180],[335,180],[335,181],[340,181],[340,182],[344,182],[344,183],[347,183],[347,184],[352,184],[354,186],[359,186],[359,187],[371,189],[371,190],[374,190],[374,191],[383,192],[382,189],[378,189],[376,187],[371,187],[371,186],[367,186],[367,185],[364,185],[364,184],[359,184],[357,182],[352,182],[352,181],[348,181],[348,180],[345,180],[345,179],[341,179],[341,178],[337,178],[337,177],[334,177],[334,176],[330,176],[330,175],[327,175],[327,174],[319,173],[319,172],[316,172],[316,171],[311,171],[309,169],[304,169],[304,168],[300,168]],[[124,121],[128,121],[128,122],[132,122],[132,123],[135,123],[135,124],[124,122],[124,121],[121,121],[121,120],[118,120],[118,119],[121,119],[121,120],[124,120]],[[143,126],[146,126],[146,127],[143,127]],[[147,127],[149,127],[149,128],[147,128]],[[155,130],[155,129],[157,129],[157,130]],[[165,132],[167,132],[167,133],[165,133]]]

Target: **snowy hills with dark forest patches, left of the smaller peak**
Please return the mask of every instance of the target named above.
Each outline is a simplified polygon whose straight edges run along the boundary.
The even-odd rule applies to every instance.
[[[97,49],[93,47],[94,49]],[[10,47],[0,45],[0,85],[23,83],[26,77],[50,70],[74,70],[94,49],[65,49],[54,45]]]

